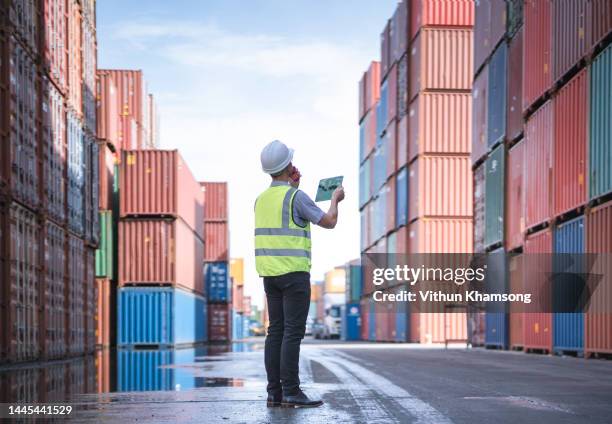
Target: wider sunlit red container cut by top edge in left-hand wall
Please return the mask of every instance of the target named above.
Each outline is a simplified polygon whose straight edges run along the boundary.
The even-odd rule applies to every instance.
[[[60,92],[66,92],[66,1],[43,1],[43,68]]]

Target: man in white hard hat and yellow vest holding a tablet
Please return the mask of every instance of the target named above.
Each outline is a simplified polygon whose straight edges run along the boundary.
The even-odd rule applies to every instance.
[[[338,187],[327,213],[298,190],[300,171],[293,149],[275,140],[261,152],[261,167],[272,177],[255,202],[255,264],[264,279],[270,325],[265,363],[269,407],[321,406],[300,389],[300,343],[310,306],[310,223],[334,228],[344,189]]]

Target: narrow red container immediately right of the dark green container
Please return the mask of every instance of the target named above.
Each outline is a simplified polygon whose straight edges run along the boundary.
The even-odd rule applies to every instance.
[[[523,186],[523,163],[525,141],[521,140],[508,152],[506,171],[506,250],[523,245],[525,231],[525,190]]]

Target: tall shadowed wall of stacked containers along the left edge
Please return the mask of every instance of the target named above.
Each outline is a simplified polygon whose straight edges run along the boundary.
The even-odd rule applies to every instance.
[[[95,347],[96,22],[77,0],[0,10],[0,362]]]

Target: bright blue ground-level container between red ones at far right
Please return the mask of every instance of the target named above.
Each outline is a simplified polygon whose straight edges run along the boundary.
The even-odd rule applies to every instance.
[[[580,283],[575,281],[571,274],[582,274],[584,263],[581,254],[584,253],[584,217],[578,217],[559,225],[554,233],[554,270],[555,273],[568,273],[568,280],[562,278],[555,284],[553,302],[555,311],[560,308],[561,302],[572,302],[582,293]],[[572,254],[572,255],[563,255]],[[561,255],[558,255],[561,254]],[[559,277],[558,277],[559,278]],[[584,350],[584,314],[582,312],[555,312],[553,313],[553,350],[556,352]]]

